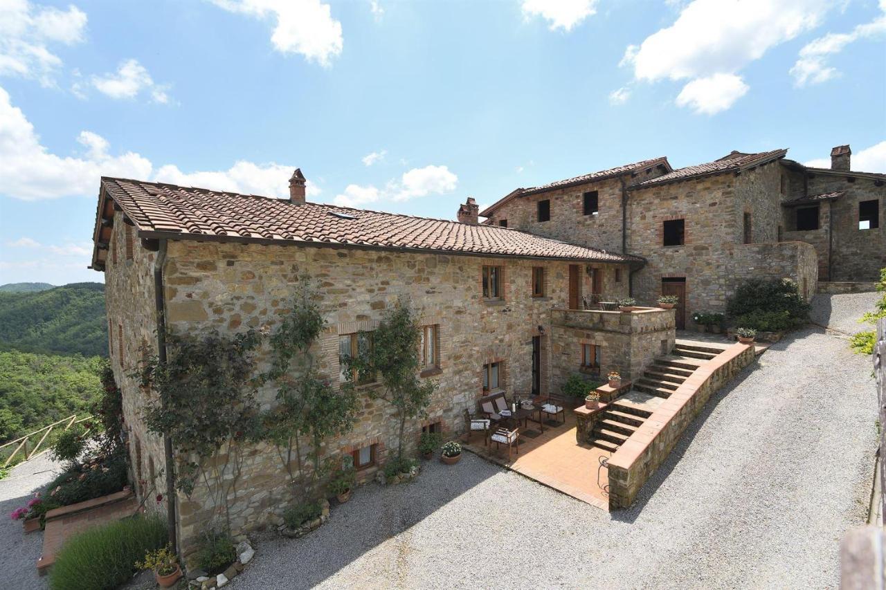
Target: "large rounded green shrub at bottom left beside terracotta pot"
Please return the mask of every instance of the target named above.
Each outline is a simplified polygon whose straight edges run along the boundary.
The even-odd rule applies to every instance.
[[[97,526],[68,540],[50,570],[51,590],[116,588],[136,572],[146,551],[167,542],[159,516],[133,516]]]

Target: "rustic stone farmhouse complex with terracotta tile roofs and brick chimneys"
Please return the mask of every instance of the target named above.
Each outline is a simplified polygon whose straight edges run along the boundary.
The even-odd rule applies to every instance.
[[[743,278],[789,276],[807,297],[820,278],[871,280],[886,266],[886,175],[851,171],[848,146],[835,148],[831,169],[785,155],[733,152],[678,170],[644,160],[514,190],[485,223],[472,198],[458,221],[307,203],[300,170],[289,199],[103,177],[92,268],[105,272],[137,493],[164,491],[167,470],[164,441],[141,417],[152,395],[134,377],[144,350],[159,350],[165,330],[273,329],[306,272],[321,284],[328,323],[315,358],[330,379],[344,380],[342,355],[398,298],[420,314],[421,377],[439,387],[428,417],[409,425],[412,447],[423,429],[464,431],[465,410],[493,392],[556,392],[576,372],[641,376],[672,349],[675,328],[691,328],[688,314],[722,309]],[[648,305],[661,293],[679,294],[680,308],[583,311],[595,299],[631,294]],[[260,402],[274,392],[260,391]],[[362,404],[329,453],[352,454],[367,479],[397,421],[387,406]],[[273,450],[254,449],[232,532],[273,522],[292,501],[279,471]],[[167,501],[187,549],[212,516],[208,500]]]

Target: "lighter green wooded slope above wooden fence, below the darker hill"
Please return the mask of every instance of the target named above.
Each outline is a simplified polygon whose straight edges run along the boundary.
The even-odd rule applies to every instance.
[[[104,364],[97,356],[0,352],[0,443],[88,412]]]

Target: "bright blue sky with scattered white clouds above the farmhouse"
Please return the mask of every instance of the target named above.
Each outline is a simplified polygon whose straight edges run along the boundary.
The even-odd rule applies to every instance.
[[[0,0],[0,283],[103,279],[100,175],[451,219],[663,155],[886,172],[884,39],[886,0]]]

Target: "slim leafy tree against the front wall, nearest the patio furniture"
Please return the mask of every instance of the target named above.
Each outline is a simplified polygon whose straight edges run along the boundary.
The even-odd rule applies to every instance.
[[[385,312],[373,332],[374,345],[346,360],[349,369],[357,370],[358,377],[370,374],[381,377],[382,389],[370,389],[369,396],[391,404],[400,417],[397,462],[403,459],[406,421],[426,415],[431,395],[437,389],[437,384],[418,378],[421,338],[421,326],[412,308],[406,299],[399,299]],[[353,371],[347,371],[346,375],[349,381],[353,379]]]

